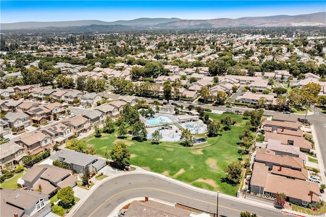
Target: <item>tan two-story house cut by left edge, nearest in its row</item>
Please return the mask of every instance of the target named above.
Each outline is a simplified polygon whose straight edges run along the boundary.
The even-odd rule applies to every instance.
[[[23,156],[26,156],[25,149],[14,142],[0,145],[0,169],[22,164]]]

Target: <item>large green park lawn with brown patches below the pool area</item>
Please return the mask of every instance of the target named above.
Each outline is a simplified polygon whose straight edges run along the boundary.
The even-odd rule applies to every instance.
[[[210,118],[220,120],[227,114],[207,113]],[[237,120],[236,126],[230,131],[223,131],[222,135],[208,138],[208,143],[194,147],[183,147],[177,142],[161,142],[158,145],[150,141],[137,142],[130,137],[124,140],[117,139],[116,132],[102,134],[101,138],[91,135],[83,141],[88,146],[97,148],[97,154],[104,156],[105,149],[111,151],[117,142],[124,142],[131,153],[130,163],[146,170],[164,174],[177,180],[228,194],[236,195],[238,186],[224,182],[226,177],[223,169],[239,157],[238,134],[244,123],[242,116],[228,114]],[[105,157],[105,156],[104,156]],[[110,158],[110,156],[109,156]]]

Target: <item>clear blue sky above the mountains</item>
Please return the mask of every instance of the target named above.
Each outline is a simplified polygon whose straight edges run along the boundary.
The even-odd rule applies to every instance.
[[[181,19],[297,15],[326,11],[326,1],[0,1],[1,23],[141,17]]]

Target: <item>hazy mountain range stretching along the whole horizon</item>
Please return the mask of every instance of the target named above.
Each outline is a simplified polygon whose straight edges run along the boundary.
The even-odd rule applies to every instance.
[[[206,20],[182,20],[179,18],[139,18],[133,20],[118,20],[105,22],[100,20],[76,20],[58,22],[15,22],[1,23],[1,30],[17,29],[66,29],[74,26],[84,26],[95,30],[149,30],[149,29],[208,29],[221,27],[253,26],[326,26],[326,12],[302,15],[277,15],[266,17],[241,17],[237,19],[218,18]]]

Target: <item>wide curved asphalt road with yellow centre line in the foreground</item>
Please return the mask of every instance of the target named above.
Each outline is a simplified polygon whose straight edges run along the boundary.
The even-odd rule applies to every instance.
[[[144,196],[170,203],[179,202],[211,212],[216,211],[216,194],[214,193],[198,192],[149,174],[128,174],[101,184],[85,203],[73,213],[73,216],[107,216],[124,201]],[[259,216],[284,215],[278,210],[232,200],[220,194],[220,214],[239,216],[243,210],[256,213]]]

